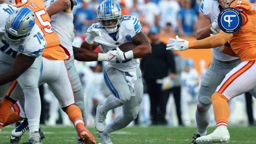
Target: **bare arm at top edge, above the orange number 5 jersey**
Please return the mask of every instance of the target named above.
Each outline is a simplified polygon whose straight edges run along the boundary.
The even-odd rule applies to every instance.
[[[57,0],[50,7],[47,8],[47,13],[51,17],[60,11],[63,11],[71,6],[70,0]]]

